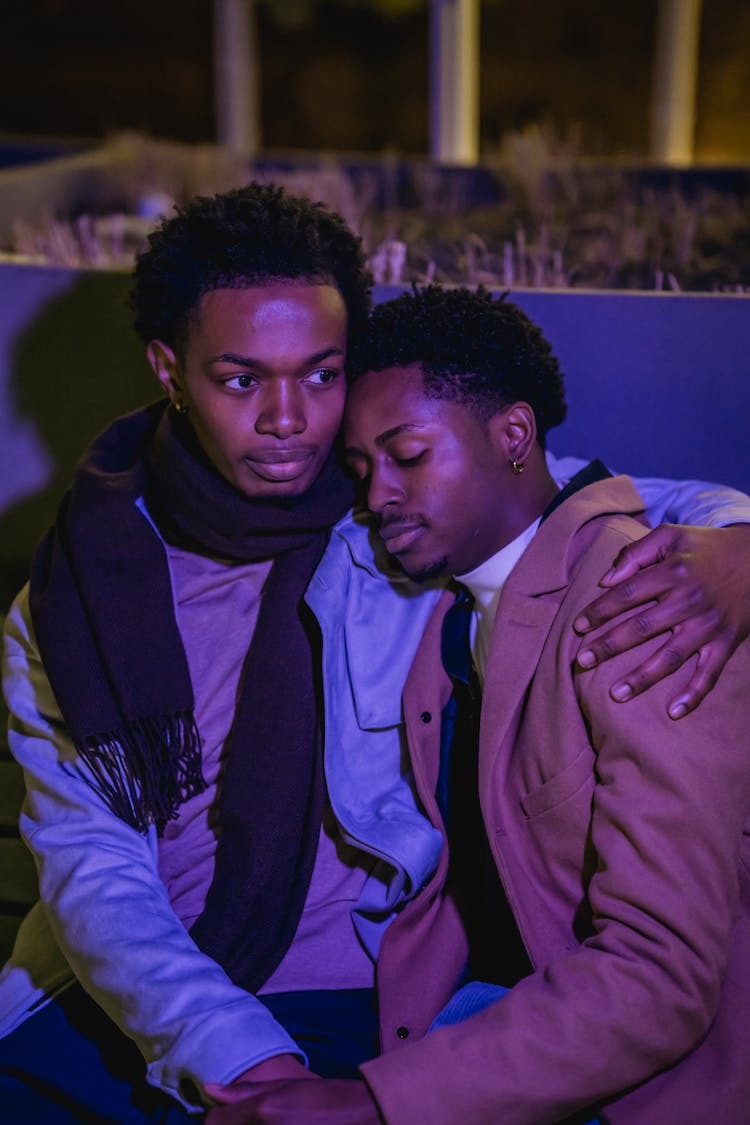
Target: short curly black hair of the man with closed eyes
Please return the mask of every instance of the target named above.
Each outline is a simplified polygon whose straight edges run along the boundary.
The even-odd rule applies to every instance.
[[[430,285],[376,305],[349,358],[350,380],[410,363],[422,366],[430,397],[459,402],[484,421],[528,403],[542,444],[566,417],[562,372],[541,328],[482,287]]]

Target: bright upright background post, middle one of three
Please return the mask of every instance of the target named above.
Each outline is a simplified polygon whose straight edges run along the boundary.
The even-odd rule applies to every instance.
[[[479,159],[479,0],[431,0],[430,154]]]

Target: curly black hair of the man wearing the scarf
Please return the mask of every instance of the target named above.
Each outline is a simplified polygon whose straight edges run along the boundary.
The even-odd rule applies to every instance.
[[[279,280],[333,285],[350,340],[362,331],[372,286],[362,243],[324,204],[253,181],[174,212],[136,258],[130,308],[144,343],[181,352],[204,294]]]

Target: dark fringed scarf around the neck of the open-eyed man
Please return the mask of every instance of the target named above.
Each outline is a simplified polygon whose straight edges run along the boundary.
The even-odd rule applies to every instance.
[[[302,594],[352,502],[333,457],[302,496],[251,500],[165,403],[89,449],[31,572],[42,659],[91,783],[139,831],[205,788],[187,658],[160,537],[237,561],[273,558],[222,780],[214,883],[192,928],[255,990],[293,936],[323,809],[317,626]]]

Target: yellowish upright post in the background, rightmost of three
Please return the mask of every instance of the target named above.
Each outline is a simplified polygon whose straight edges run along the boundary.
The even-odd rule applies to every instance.
[[[693,160],[701,0],[659,0],[651,102],[651,158]]]

